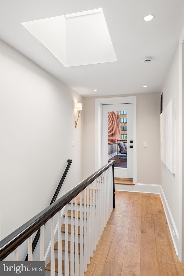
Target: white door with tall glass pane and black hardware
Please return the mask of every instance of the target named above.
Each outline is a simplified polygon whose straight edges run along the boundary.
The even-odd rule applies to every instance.
[[[108,146],[108,117],[110,112],[119,111],[118,114],[127,115],[127,136],[121,135],[114,136],[114,144],[110,145],[113,147],[112,151],[109,154]],[[120,116],[125,117],[125,116]],[[121,121],[121,119],[119,119]],[[120,123],[121,124],[121,123]],[[120,126],[119,126],[120,127]],[[122,129],[120,129],[121,131]],[[124,129],[123,129],[124,130]],[[120,136],[121,135],[121,136]],[[118,139],[119,137],[119,139]],[[121,139],[122,138],[122,139]],[[125,139],[126,138],[126,139]],[[118,141],[117,141],[118,139]],[[119,146],[117,142],[119,141],[126,142],[127,140],[127,153],[121,154],[119,151]],[[122,152],[123,153],[123,152]],[[108,163],[108,160],[117,160],[115,161],[114,166],[114,176],[119,178],[133,178],[133,104],[103,104],[102,105],[102,166]],[[126,161],[126,163],[125,163]],[[124,162],[124,163],[123,163]],[[123,165],[121,165],[123,163]],[[120,164],[120,165],[119,165]]]

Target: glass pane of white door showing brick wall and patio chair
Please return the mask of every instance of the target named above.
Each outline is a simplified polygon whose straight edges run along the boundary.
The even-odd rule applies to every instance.
[[[108,112],[108,160],[127,168],[127,111]]]

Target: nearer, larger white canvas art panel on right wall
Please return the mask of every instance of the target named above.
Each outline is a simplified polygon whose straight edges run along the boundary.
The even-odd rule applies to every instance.
[[[165,108],[165,164],[175,174],[175,99]]]

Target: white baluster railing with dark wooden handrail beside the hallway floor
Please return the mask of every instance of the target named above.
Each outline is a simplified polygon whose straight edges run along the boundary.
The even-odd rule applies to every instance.
[[[14,252],[14,261],[18,261],[18,247],[26,240],[28,244],[32,244],[32,235],[40,228],[39,260],[45,261],[43,226],[50,220],[50,275],[55,276],[55,272],[58,272],[58,275],[63,273],[68,276],[70,269],[71,276],[83,276],[113,207],[115,207],[114,161],[111,161],[3,239],[0,242],[0,261],[11,252]],[[68,227],[68,210],[71,210],[70,227]],[[64,217],[61,216],[62,211],[65,213]],[[54,231],[56,214],[58,215],[57,231]],[[64,233],[61,233],[63,228]],[[54,235],[54,232],[58,235]],[[54,252],[56,238],[58,239],[57,258]],[[64,253],[62,253],[62,240]],[[70,261],[68,240],[70,240]],[[32,260],[34,260],[32,246],[29,246],[28,261]]]

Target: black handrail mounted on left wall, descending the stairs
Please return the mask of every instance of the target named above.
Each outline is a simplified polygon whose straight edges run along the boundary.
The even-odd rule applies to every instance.
[[[60,180],[60,182],[59,182],[59,184],[58,184],[58,186],[57,186],[57,189],[55,190],[55,193],[54,193],[53,198],[52,198],[52,200],[51,200],[51,202],[50,202],[49,205],[51,205],[53,202],[56,201],[56,198],[57,198],[57,196],[58,196],[58,194],[59,194],[59,192],[60,192],[60,190],[61,190],[61,187],[62,187],[62,185],[63,185],[63,182],[64,182],[64,180],[65,180],[65,178],[66,178],[66,175],[67,175],[68,170],[69,170],[69,168],[70,168],[70,165],[71,165],[71,163],[72,163],[72,159],[68,159],[67,162],[68,162],[68,165],[66,166],[66,169],[65,169],[65,171],[64,171],[64,173],[63,173],[63,175],[62,175],[62,178],[61,178],[61,180]],[[43,227],[44,227],[44,226],[45,226],[45,224],[43,225]],[[36,233],[36,236],[34,237],[34,240],[33,240],[33,242],[32,242],[32,252],[34,252],[34,249],[36,248],[36,245],[37,245],[37,243],[38,243],[38,241],[39,241],[39,238],[40,238],[40,229],[38,229],[38,231],[37,231],[37,233]],[[26,256],[26,258],[25,258],[24,261],[28,261],[28,254],[27,254],[27,256]]]

